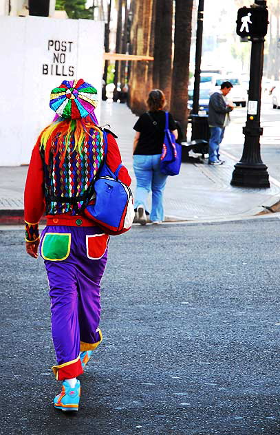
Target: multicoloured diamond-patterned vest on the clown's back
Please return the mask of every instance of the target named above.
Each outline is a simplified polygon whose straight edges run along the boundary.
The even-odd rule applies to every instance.
[[[104,143],[100,133],[89,130],[90,136],[83,145],[83,152],[72,151],[68,147],[63,165],[60,167],[61,154],[55,153],[56,142],[50,151],[48,164],[44,163],[45,173],[45,214],[56,215],[71,213],[77,215],[89,202],[92,182],[104,157]],[[44,151],[41,156],[45,162]]]

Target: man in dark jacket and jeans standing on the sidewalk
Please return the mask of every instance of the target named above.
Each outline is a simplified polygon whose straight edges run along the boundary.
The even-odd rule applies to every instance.
[[[222,165],[222,163],[224,163],[223,160],[219,159],[219,144],[224,138],[224,129],[230,122],[229,112],[231,112],[234,108],[233,103],[226,102],[225,98],[232,87],[233,85],[230,82],[223,82],[221,85],[221,90],[214,92],[209,100],[209,165]]]

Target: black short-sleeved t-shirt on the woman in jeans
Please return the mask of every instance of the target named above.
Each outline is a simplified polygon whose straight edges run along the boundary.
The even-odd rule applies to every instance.
[[[133,154],[153,156],[154,154],[162,153],[165,112],[163,110],[157,110],[156,112],[149,112],[149,114],[158,124],[153,125],[153,120],[151,120],[146,112],[138,118],[133,129],[140,132],[140,138]],[[169,130],[173,131],[175,129],[177,129],[176,124],[172,115],[169,114]]]

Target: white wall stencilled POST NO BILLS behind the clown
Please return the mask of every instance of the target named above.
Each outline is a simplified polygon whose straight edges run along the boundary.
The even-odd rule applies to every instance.
[[[54,118],[50,92],[63,80],[83,78],[101,100],[104,29],[91,20],[0,17],[0,40],[0,166],[14,166],[30,161]]]

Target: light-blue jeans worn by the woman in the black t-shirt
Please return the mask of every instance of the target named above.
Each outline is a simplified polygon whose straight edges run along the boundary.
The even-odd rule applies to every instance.
[[[164,220],[163,191],[168,176],[160,172],[160,154],[133,156],[133,169],[137,180],[135,208],[143,205],[147,210],[147,197],[152,191],[150,220]]]

